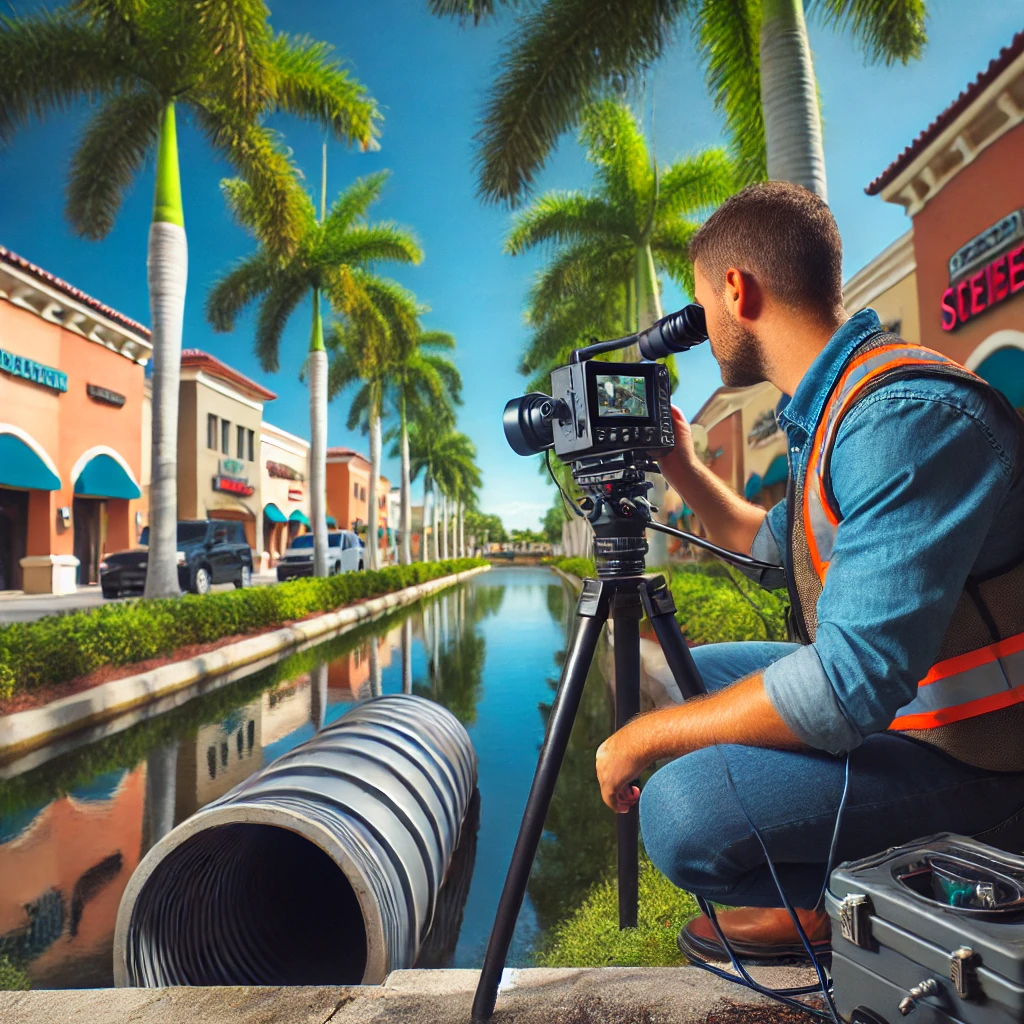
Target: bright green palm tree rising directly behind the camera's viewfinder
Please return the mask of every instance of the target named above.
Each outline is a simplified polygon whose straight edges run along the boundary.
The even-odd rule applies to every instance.
[[[732,195],[734,168],[722,150],[657,167],[636,117],[610,99],[584,112],[580,141],[596,187],[538,197],[515,217],[505,250],[513,256],[539,246],[555,250],[534,291],[535,319],[572,295],[591,301],[622,295],[624,333],[642,330],[662,316],[658,271],[693,293],[687,248],[695,218]]]

